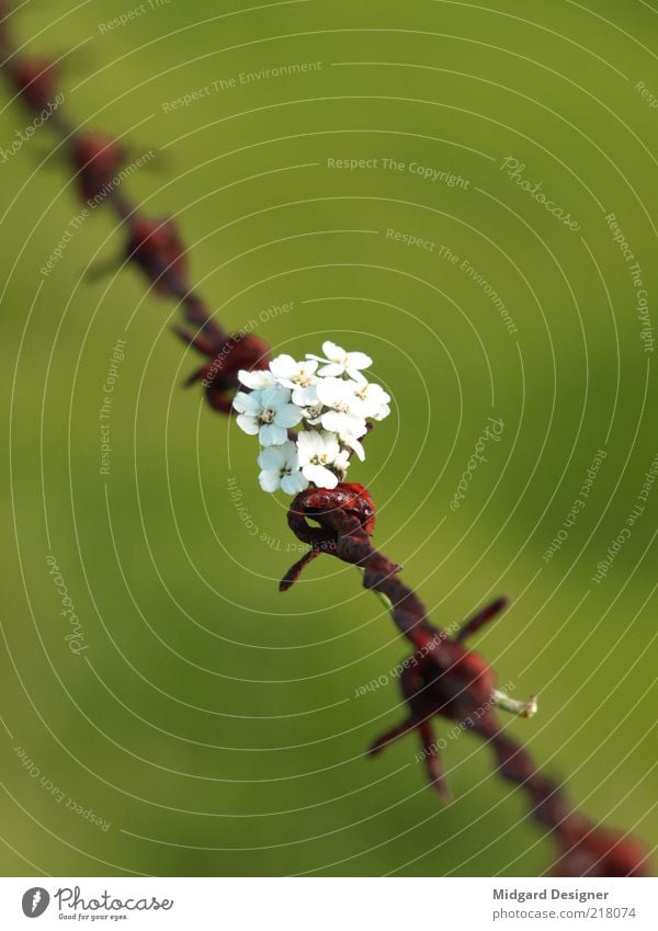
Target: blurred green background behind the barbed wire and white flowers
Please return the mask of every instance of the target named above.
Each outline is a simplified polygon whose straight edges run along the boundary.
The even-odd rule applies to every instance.
[[[636,86],[658,94],[656,10],[171,0],[107,26],[131,9],[32,0],[14,29],[30,50],[65,56],[70,118],[121,136],[132,158],[159,150],[126,190],[177,218],[194,281],[228,327],[294,302],[259,321],[274,351],[331,338],[375,359],[394,415],[350,478],[378,502],[377,545],[444,625],[513,599],[477,640],[515,696],[540,695],[541,714],[506,720],[510,733],[593,819],[655,843],[658,491],[593,577],[658,453],[650,344],[605,220],[616,215],[651,304],[658,110]],[[321,67],[239,80],[304,63]],[[10,96],[5,148],[32,118]],[[133,269],[83,280],[121,253],[111,213],[95,211],[39,273],[81,209],[55,141],[46,126],[0,164],[2,871],[548,870],[553,847],[525,798],[470,736],[445,750],[449,807],[413,738],[364,757],[402,708],[394,679],[358,692],[389,677],[405,645],[354,569],[320,559],[277,593],[297,558],[286,501],[260,491],[253,441],[180,390],[197,360],[171,336],[175,308]],[[579,229],[514,183],[506,157]],[[329,167],[341,158],[377,164]],[[426,180],[413,163],[468,183]],[[453,512],[489,417],[504,421],[501,440]],[[600,449],[587,507],[546,561]],[[80,618],[80,655],[48,555]]]

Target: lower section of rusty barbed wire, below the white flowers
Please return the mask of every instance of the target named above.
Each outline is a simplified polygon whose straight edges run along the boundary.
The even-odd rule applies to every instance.
[[[311,526],[313,521],[318,526]],[[506,608],[506,599],[485,606],[449,637],[434,626],[418,595],[398,577],[399,566],[374,548],[375,509],[368,492],[358,485],[342,485],[333,491],[308,489],[298,495],[288,512],[296,536],[310,545],[310,554],[285,576],[287,590],[310,561],[321,553],[361,567],[363,586],[390,603],[390,613],[400,633],[411,643],[413,654],[402,663],[400,690],[408,707],[407,717],[381,735],[370,748],[381,753],[394,740],[415,733],[421,745],[430,784],[449,802],[440,747],[433,719],[442,717],[483,738],[494,752],[497,769],[518,785],[530,802],[530,814],[548,829],[557,844],[555,875],[559,876],[646,876],[648,852],[635,838],[595,827],[568,804],[561,785],[543,775],[532,757],[501,730],[496,708],[532,717],[536,699],[511,700],[496,688],[496,674],[465,640],[491,623]]]

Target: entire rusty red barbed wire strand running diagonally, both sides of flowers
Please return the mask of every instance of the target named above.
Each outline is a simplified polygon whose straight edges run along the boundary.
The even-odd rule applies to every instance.
[[[155,294],[179,303],[186,327],[175,327],[174,333],[205,357],[186,384],[201,383],[208,405],[230,415],[238,372],[265,370],[266,343],[251,334],[229,334],[215,319],[191,287],[188,253],[173,222],[141,215],[114,183],[125,162],[123,147],[104,133],[76,129],[61,107],[53,107],[57,69],[45,58],[22,56],[14,50],[9,15],[9,8],[0,0],[2,70],[29,110],[36,114],[49,111],[49,124],[61,137],[81,197],[92,202],[102,196],[101,203],[114,209],[124,225],[124,260],[141,272]],[[317,526],[309,525],[309,520]],[[487,742],[500,774],[526,793],[532,817],[552,832],[557,843],[556,875],[648,875],[648,854],[639,841],[594,827],[576,813],[565,801],[561,786],[544,776],[527,751],[502,733],[495,714],[497,706],[530,717],[536,712],[536,700],[515,702],[498,691],[495,672],[464,643],[502,612],[504,599],[494,601],[467,621],[453,638],[434,626],[418,595],[399,578],[400,566],[373,547],[375,506],[360,485],[342,484],[332,491],[311,488],[303,492],[293,501],[288,524],[310,549],[288,570],[281,582],[282,591],[287,591],[321,554],[358,566],[363,570],[363,586],[383,598],[399,632],[413,648],[400,675],[408,716],[374,741],[371,756],[394,740],[417,734],[430,783],[450,801],[433,718],[456,720]]]

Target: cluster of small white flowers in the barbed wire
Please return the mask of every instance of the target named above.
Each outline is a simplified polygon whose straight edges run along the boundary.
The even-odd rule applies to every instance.
[[[238,375],[250,390],[238,391],[234,408],[240,429],[263,447],[258,464],[264,491],[297,495],[310,484],[336,488],[352,453],[365,458],[361,438],[367,421],[390,413],[390,397],[363,375],[373,364],[370,356],[329,341],[322,352],[307,354],[305,362],[279,355],[269,370]],[[298,425],[293,440],[290,431]]]

